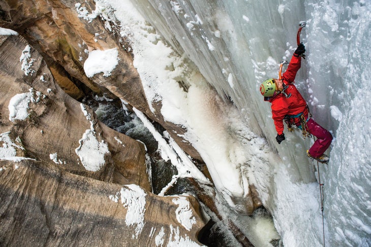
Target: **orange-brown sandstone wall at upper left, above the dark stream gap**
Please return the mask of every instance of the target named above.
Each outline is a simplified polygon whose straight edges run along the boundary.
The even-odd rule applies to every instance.
[[[76,81],[97,93],[113,93],[163,125],[185,152],[202,160],[191,145],[175,134],[176,131],[184,132],[180,126],[166,122],[159,111],[153,114],[149,110],[132,55],[122,49],[122,46],[128,48],[129,44],[115,32],[107,31],[105,23],[99,19],[79,18],[75,4],[74,1],[59,0],[1,2],[0,26],[20,33],[44,57],[54,78],[66,79],[67,73],[69,80],[61,80],[60,86],[71,96],[81,97],[81,89],[73,85]],[[94,3],[89,1],[84,7],[89,13],[95,9]],[[112,21],[106,23],[117,28]],[[117,48],[119,60],[111,75],[105,77],[101,73],[88,78],[83,69],[83,61],[88,57],[86,51],[112,48]]]

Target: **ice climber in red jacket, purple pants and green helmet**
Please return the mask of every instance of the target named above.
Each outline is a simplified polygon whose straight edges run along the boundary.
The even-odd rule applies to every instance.
[[[298,127],[317,137],[313,146],[306,151],[308,157],[327,163],[329,158],[324,152],[331,144],[331,133],[313,120],[308,111],[306,101],[296,89],[294,79],[301,66],[301,56],[305,52],[305,47],[300,44],[294,52],[286,72],[282,75],[282,80],[270,78],[260,85],[261,94],[265,101],[271,103],[272,118],[274,121],[277,136],[277,143],[285,139],[284,124],[288,124],[289,129]]]

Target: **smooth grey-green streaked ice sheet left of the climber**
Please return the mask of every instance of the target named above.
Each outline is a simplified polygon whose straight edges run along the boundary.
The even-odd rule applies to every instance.
[[[260,83],[277,77],[279,63],[289,60],[296,48],[298,23],[305,19],[297,14],[304,14],[300,2],[140,0],[133,4],[180,54],[184,51],[195,62],[220,95],[233,101],[256,133],[267,137],[298,180],[314,180],[308,165],[296,165],[308,164],[302,150],[309,141],[289,135],[288,141],[297,144],[294,150],[277,145],[270,105],[259,93]],[[303,36],[305,42],[305,31]],[[297,85],[304,89],[305,74],[303,64]]]

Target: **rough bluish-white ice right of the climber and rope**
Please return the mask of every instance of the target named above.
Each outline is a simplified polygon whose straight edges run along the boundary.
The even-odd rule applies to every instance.
[[[370,246],[371,103],[365,89],[371,82],[371,4],[306,1],[305,12],[311,20],[311,103],[316,117],[336,130],[323,174],[329,242]]]

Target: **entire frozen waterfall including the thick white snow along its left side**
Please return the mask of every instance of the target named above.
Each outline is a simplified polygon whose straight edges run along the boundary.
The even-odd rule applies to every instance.
[[[298,23],[306,20],[307,59],[296,86],[335,137],[329,164],[320,164],[326,245],[371,244],[369,1],[108,3],[132,41],[147,98],[162,100],[167,121],[192,129],[186,137],[227,201],[243,197],[248,183],[257,187],[285,246],[323,244],[317,171],[305,154],[313,140],[285,130],[286,140],[275,142],[259,85],[291,59]]]

